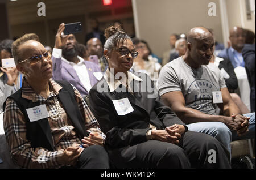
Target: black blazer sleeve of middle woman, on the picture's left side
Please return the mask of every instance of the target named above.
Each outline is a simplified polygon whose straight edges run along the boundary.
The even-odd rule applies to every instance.
[[[89,92],[90,109],[100,123],[102,132],[106,134],[105,147],[121,148],[146,142],[146,132],[150,129],[120,128],[112,100],[98,92],[96,86],[97,84]]]

